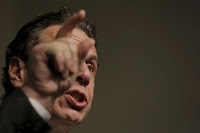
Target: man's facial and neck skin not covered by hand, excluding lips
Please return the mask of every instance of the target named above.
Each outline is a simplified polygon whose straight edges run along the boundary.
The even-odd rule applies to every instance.
[[[53,36],[51,36],[54,32],[56,32],[60,26],[51,26],[45,30],[46,38],[51,40]],[[81,40],[85,40],[88,36],[80,29],[75,28],[72,31],[71,37],[80,42]],[[52,114],[52,119],[50,124],[55,128],[52,132],[67,132],[73,126],[79,124],[89,112],[93,95],[94,95],[94,81],[95,75],[97,71],[97,52],[95,45],[92,45],[88,51],[88,54],[85,58],[85,61],[82,64],[81,70],[77,75],[77,79],[73,82],[72,86],[66,91],[74,91],[77,90],[86,95],[87,98],[87,106],[81,110],[72,108],[67,102],[67,95],[64,94],[57,98],[49,108],[49,111]]]

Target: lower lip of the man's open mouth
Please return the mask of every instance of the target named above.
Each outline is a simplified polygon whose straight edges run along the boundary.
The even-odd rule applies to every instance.
[[[85,108],[87,106],[87,102],[86,101],[78,102],[70,94],[67,94],[66,97],[67,97],[67,102],[71,106],[74,106],[74,107],[76,107],[78,109],[83,109],[83,108]]]

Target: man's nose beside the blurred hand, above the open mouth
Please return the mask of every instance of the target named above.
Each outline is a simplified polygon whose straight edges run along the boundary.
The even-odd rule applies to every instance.
[[[81,66],[80,72],[78,73],[76,81],[80,85],[87,86],[90,83],[90,71],[87,67],[87,64],[84,62]]]

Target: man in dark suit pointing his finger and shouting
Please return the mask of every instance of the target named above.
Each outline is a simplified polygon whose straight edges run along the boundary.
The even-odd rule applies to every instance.
[[[49,120],[48,111],[45,112],[48,109],[52,132],[68,132],[90,110],[98,64],[93,40],[95,29],[84,19],[84,11],[73,14],[69,8],[63,8],[41,15],[22,27],[8,46],[3,77],[7,96],[0,110],[1,131],[48,131],[48,126],[43,126],[43,120]],[[20,89],[22,92],[18,92]],[[64,95],[60,96],[63,92]],[[9,103],[12,99],[23,104],[16,98],[22,96],[21,93],[25,94],[21,100],[28,105],[24,109],[30,112],[23,111],[25,116],[17,113],[21,116],[14,120],[9,117],[5,122],[7,116],[2,114],[12,113],[5,113],[6,105],[9,109],[16,109]],[[42,109],[41,105],[45,108]],[[21,117],[26,118],[19,120]],[[38,121],[42,121],[40,125]]]

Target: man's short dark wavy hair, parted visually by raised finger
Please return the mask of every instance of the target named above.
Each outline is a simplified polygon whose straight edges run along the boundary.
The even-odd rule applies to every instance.
[[[65,23],[73,14],[74,12],[69,7],[63,7],[57,11],[51,11],[37,16],[19,30],[15,39],[8,45],[6,50],[6,66],[3,68],[2,78],[6,94],[9,94],[14,89],[8,74],[11,59],[18,57],[26,63],[30,50],[33,46],[40,43],[42,31],[49,26]],[[88,19],[84,19],[78,25],[78,28],[83,30],[88,37],[96,40],[95,26]]]

